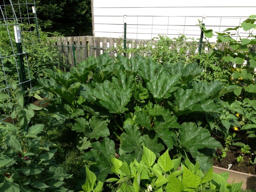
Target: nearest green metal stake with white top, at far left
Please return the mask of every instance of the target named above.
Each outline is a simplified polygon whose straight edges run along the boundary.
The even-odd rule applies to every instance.
[[[23,83],[26,81],[26,74],[25,74],[25,67],[24,67],[24,59],[23,55],[26,54],[25,52],[22,52],[22,44],[21,44],[21,34],[20,34],[20,26],[14,25],[14,35],[15,35],[15,41],[17,45],[17,51],[18,51],[18,60],[19,60],[19,72],[20,72],[20,83],[21,83],[21,91],[27,90],[26,83]],[[25,97],[24,99],[24,105],[27,105],[29,102],[28,97]],[[25,130],[27,132],[27,127],[25,127]]]

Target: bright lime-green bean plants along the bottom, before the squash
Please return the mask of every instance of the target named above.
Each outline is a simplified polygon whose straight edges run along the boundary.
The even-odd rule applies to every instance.
[[[111,162],[111,171],[116,177],[109,178],[105,182],[119,184],[120,188],[117,192],[209,190],[238,192],[242,187],[242,182],[227,183],[228,172],[218,175],[213,172],[212,167],[207,172],[203,172],[197,161],[194,165],[188,158],[182,163],[181,157],[171,160],[168,149],[157,159],[153,151],[143,146],[140,162],[134,159],[127,164],[113,156]],[[86,181],[82,186],[84,191],[100,192],[103,190],[102,187],[103,183],[100,180],[96,185],[96,175],[86,167]]]

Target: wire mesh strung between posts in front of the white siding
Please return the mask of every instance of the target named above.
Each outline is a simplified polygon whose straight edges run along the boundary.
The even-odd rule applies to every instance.
[[[248,15],[249,16],[249,15]],[[239,26],[248,17],[211,17],[211,16],[148,16],[148,15],[124,15],[123,23],[127,24],[127,38],[152,39],[158,34],[171,38],[181,34],[186,37],[200,37],[199,20],[205,24],[207,29],[212,29],[214,36],[210,41],[215,41],[217,34],[227,28]],[[109,23],[111,25],[111,23]],[[120,24],[123,25],[124,24]],[[112,26],[111,26],[112,27]],[[111,27],[109,27],[111,29]],[[121,29],[121,28],[120,28]],[[121,31],[119,31],[121,32]],[[124,30],[122,31],[124,36]],[[254,35],[256,35],[254,33]],[[248,32],[240,29],[232,31],[234,39],[240,36],[246,38]]]

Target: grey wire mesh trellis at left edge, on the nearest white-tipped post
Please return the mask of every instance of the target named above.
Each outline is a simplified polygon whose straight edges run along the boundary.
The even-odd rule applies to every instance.
[[[29,22],[30,16],[22,15],[21,9],[27,8],[30,4],[35,5],[32,1],[28,3],[25,1],[20,4],[20,1],[0,1],[0,122],[14,121],[10,118],[15,107],[22,106],[23,98],[20,97],[19,90],[23,90],[24,87],[31,88],[31,77],[28,67],[27,53],[25,50],[24,42],[21,36],[22,52],[18,52],[17,44],[14,35],[14,26],[20,31],[21,22]],[[32,12],[32,10],[31,10]],[[25,76],[21,76],[20,63],[22,59],[24,61]],[[26,91],[26,90],[23,90]]]

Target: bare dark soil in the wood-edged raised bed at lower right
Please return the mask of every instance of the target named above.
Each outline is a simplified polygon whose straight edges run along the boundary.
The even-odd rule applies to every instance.
[[[218,137],[215,137],[215,139],[222,143],[223,148],[225,147],[223,139],[218,138]],[[213,160],[214,160],[213,165],[227,169],[228,165],[232,164],[230,170],[256,175],[256,164],[253,165],[253,164],[249,163],[250,159],[253,162],[255,159],[255,156],[256,156],[255,154],[253,154],[253,152],[256,151],[256,140],[251,139],[251,138],[240,138],[240,140],[238,140],[236,142],[243,142],[245,145],[249,145],[250,148],[252,148],[250,150],[251,154],[243,154],[241,152],[241,147],[231,145],[227,152],[227,156],[225,158],[223,158],[221,161],[217,158],[213,158]],[[221,155],[220,149],[217,149],[216,155],[217,156]],[[244,156],[244,161],[240,165],[238,165],[238,162],[236,160],[236,157],[238,157],[239,155]]]

